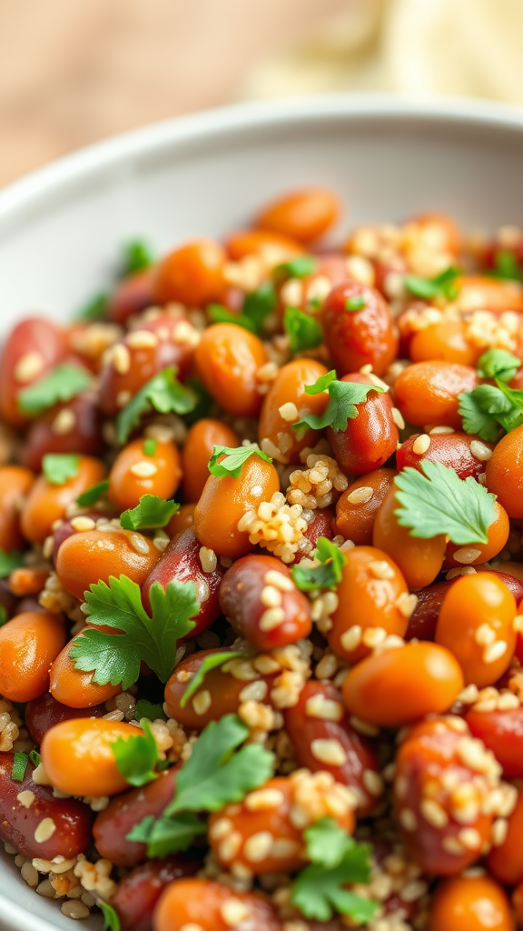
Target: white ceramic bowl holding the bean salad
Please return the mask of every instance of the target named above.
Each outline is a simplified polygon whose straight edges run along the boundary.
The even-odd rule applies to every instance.
[[[66,319],[111,273],[121,243],[158,251],[248,223],[269,197],[326,184],[343,229],[449,211],[468,227],[523,221],[523,111],[336,95],[248,104],[161,123],[63,159],[0,194],[0,321]],[[0,860],[0,929],[72,928]],[[101,928],[91,918],[84,928]]]

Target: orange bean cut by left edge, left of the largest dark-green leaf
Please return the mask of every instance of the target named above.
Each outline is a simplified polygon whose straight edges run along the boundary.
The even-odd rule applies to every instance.
[[[61,614],[17,614],[0,627],[0,695],[31,701],[46,691],[49,666],[65,643]]]

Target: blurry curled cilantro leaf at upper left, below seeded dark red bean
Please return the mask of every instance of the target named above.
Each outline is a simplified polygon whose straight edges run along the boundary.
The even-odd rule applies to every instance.
[[[116,419],[116,439],[120,446],[126,441],[129,433],[140,424],[141,415],[154,409],[160,413],[184,414],[194,411],[197,398],[194,391],[186,385],[181,385],[176,378],[176,367],[171,366],[158,375],[137,392],[125,408],[119,412]]]

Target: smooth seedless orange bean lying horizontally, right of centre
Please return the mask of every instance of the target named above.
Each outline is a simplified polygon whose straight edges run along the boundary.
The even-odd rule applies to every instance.
[[[446,711],[463,689],[454,656],[436,643],[407,643],[369,656],[342,685],[350,714],[379,727],[401,727]]]

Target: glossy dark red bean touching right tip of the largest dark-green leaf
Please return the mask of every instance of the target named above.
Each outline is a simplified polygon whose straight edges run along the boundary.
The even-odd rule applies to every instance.
[[[200,601],[201,608],[194,618],[196,627],[190,631],[188,637],[196,637],[202,630],[207,630],[220,614],[219,591],[225,569],[218,557],[216,568],[205,572],[202,560],[205,564],[206,554],[200,557],[202,548],[196,540],[193,527],[188,527],[187,530],[179,533],[174,540],[170,541],[141,589],[143,606],[146,611],[151,611],[149,592],[154,582],[159,582],[164,589],[173,579],[178,582],[194,583],[196,597]]]

